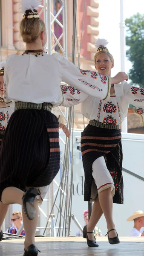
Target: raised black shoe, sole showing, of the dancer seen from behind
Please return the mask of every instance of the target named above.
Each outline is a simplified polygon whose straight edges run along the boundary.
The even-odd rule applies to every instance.
[[[35,211],[35,207],[33,207],[32,205],[34,205],[35,197],[37,195],[38,195],[38,191],[36,188],[29,188],[26,190],[26,193],[23,195],[23,198],[22,198],[23,210],[29,220],[33,220],[35,218],[36,211]]]

